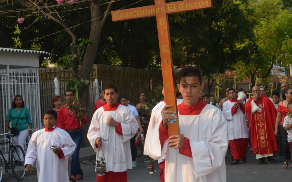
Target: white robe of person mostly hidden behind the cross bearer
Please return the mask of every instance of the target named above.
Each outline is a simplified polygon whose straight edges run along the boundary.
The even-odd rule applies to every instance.
[[[176,103],[177,105],[179,105],[180,103],[182,103],[182,99],[176,99]],[[156,126],[157,123],[160,123],[162,121],[162,116],[161,116],[161,111],[163,109],[163,107],[165,106],[165,102],[161,101],[160,103],[158,103],[156,106],[153,107],[152,112],[151,112],[151,117],[149,120],[149,125],[148,125],[148,129],[147,129],[147,134],[146,134],[146,138],[145,138],[145,144],[144,144],[144,155],[148,155],[147,153],[147,141],[148,138],[150,136],[151,131],[154,129],[154,127]],[[162,162],[162,160],[165,159],[165,156],[163,156],[161,159],[158,160],[158,163]]]

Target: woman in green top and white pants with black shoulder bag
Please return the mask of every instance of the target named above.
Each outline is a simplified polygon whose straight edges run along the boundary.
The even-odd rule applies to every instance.
[[[24,151],[24,144],[27,135],[30,136],[33,132],[32,129],[33,122],[30,117],[30,111],[26,106],[24,106],[24,102],[21,95],[16,95],[13,99],[12,106],[10,107],[6,118],[5,133],[8,133],[8,126],[10,121],[11,127],[16,127],[17,130],[19,131],[19,135],[14,136],[13,141],[16,145],[20,145],[20,147],[22,147]],[[29,128],[27,124],[29,125]],[[23,157],[21,157],[21,159],[23,160]]]

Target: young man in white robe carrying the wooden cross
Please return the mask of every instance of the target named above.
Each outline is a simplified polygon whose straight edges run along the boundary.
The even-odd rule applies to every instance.
[[[228,148],[227,122],[215,106],[203,103],[203,90],[198,67],[186,66],[178,73],[179,91],[183,102],[178,114],[162,109],[162,122],[151,132],[147,142],[148,154],[157,160],[165,156],[165,181],[226,182],[225,155]],[[180,135],[168,136],[168,119],[179,117]]]

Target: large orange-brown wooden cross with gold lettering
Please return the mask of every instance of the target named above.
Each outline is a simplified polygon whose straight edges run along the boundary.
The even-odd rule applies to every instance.
[[[175,109],[176,113],[178,113],[167,15],[195,9],[211,8],[212,1],[185,0],[166,3],[166,0],[154,0],[154,2],[155,5],[112,11],[112,20],[116,22],[156,16],[165,104],[172,105],[173,107],[169,109]],[[180,134],[178,118],[176,119],[175,123],[168,123],[168,132],[169,136]]]

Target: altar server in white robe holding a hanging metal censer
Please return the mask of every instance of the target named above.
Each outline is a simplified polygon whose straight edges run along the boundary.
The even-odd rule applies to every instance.
[[[127,182],[127,169],[132,169],[130,139],[136,135],[139,125],[132,111],[116,102],[116,86],[107,85],[103,89],[106,105],[93,114],[87,133],[95,152],[100,143],[102,150],[100,149],[99,157],[106,163],[106,175],[96,175],[96,180]]]

